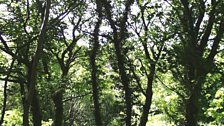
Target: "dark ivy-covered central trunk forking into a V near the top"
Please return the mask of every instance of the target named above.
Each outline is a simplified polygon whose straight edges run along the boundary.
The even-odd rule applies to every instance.
[[[130,89],[130,81],[128,79],[128,75],[125,70],[125,57],[122,52],[122,42],[126,39],[126,22],[128,19],[128,13],[130,12],[130,7],[134,3],[133,0],[127,0],[125,3],[125,10],[120,19],[121,22],[118,24],[120,30],[117,28],[117,21],[112,19],[112,7],[108,1],[103,1],[103,4],[106,9],[106,15],[109,20],[110,26],[113,29],[113,43],[115,47],[115,54],[117,57],[117,64],[119,69],[119,75],[121,79],[121,83],[124,86],[124,97],[125,97],[125,123],[126,126],[131,126],[131,117],[132,117],[132,97],[131,97],[131,89]]]

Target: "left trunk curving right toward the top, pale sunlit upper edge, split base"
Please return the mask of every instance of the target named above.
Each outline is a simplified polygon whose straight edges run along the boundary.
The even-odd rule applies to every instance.
[[[25,105],[27,108],[27,110],[25,110],[26,115],[24,115],[25,117],[25,125],[27,125],[27,122],[29,122],[29,108],[30,105],[32,106],[32,114],[33,114],[33,125],[34,126],[41,126],[41,109],[40,109],[40,105],[39,105],[39,101],[33,101],[33,100],[38,100],[37,98],[37,92],[35,89],[35,85],[36,85],[36,81],[37,81],[37,65],[39,63],[39,60],[41,58],[41,54],[43,51],[43,46],[44,46],[44,41],[45,41],[45,35],[47,32],[47,23],[48,23],[48,18],[49,18],[49,13],[50,13],[50,5],[51,5],[51,0],[47,0],[46,1],[46,9],[45,9],[45,15],[44,15],[44,19],[43,22],[41,24],[41,31],[39,33],[39,38],[38,38],[38,42],[37,42],[37,49],[36,52],[34,54],[34,57],[32,58],[31,64],[28,67],[28,76],[27,76],[27,80],[28,80],[28,94],[27,94],[27,98],[25,100]]]

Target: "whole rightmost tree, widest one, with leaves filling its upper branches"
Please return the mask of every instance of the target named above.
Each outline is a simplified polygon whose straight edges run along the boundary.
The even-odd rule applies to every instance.
[[[179,24],[176,24],[180,40],[176,52],[180,65],[184,70],[179,72],[183,79],[181,83],[187,88],[186,125],[195,126],[199,120],[200,98],[206,75],[215,66],[215,56],[219,52],[219,45],[223,36],[223,15],[221,1],[211,3],[199,0],[188,2],[185,0],[172,1],[173,11]],[[208,16],[208,19],[205,17]],[[215,33],[215,34],[214,34]],[[209,45],[211,43],[211,46]]]

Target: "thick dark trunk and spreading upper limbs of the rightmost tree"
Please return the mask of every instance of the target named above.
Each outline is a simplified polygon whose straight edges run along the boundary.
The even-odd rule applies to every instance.
[[[185,67],[186,71],[189,71],[186,75],[187,83],[189,88],[189,98],[186,99],[186,113],[185,113],[185,125],[186,126],[197,126],[199,113],[201,110],[200,107],[200,98],[202,92],[202,84],[205,81],[206,74],[211,72],[210,67],[212,67],[213,60],[217,54],[218,45],[223,36],[223,20],[220,20],[220,25],[218,27],[217,35],[213,40],[212,49],[209,52],[207,58],[203,55],[205,54],[205,49],[208,46],[209,38],[211,37],[212,30],[214,30],[214,24],[217,19],[216,17],[216,8],[218,6],[218,1],[211,2],[211,10],[208,13],[208,22],[206,23],[205,30],[202,35],[199,35],[203,24],[203,18],[206,13],[206,5],[204,1],[200,1],[200,14],[196,17],[196,21],[192,16],[192,8],[190,8],[191,2],[186,0],[181,0],[183,5],[183,14],[184,18],[180,18],[182,23],[183,31],[186,32],[186,36],[182,35],[182,42],[184,43],[185,50],[182,60],[185,61],[182,65]],[[217,13],[218,14],[218,13]],[[194,24],[196,24],[194,26]],[[197,38],[200,38],[199,40]],[[184,40],[185,39],[185,40]],[[183,57],[183,56],[182,56]]]

